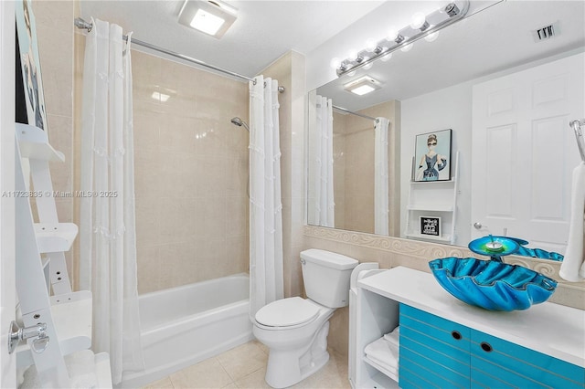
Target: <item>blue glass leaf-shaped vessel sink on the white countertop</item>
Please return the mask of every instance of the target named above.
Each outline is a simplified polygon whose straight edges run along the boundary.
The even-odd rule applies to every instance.
[[[534,270],[494,260],[439,258],[429,266],[443,289],[485,310],[527,310],[557,288],[557,281]]]

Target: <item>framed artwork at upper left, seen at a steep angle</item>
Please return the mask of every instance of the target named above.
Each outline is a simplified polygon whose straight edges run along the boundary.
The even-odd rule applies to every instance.
[[[35,125],[41,130],[47,130],[47,112],[38,58],[37,27],[29,1],[17,0],[15,14],[16,58],[20,58],[22,74],[22,78],[16,78],[16,119],[24,121],[24,112],[26,111],[28,124]],[[22,96],[18,96],[19,93]],[[19,112],[23,113],[19,114]]]

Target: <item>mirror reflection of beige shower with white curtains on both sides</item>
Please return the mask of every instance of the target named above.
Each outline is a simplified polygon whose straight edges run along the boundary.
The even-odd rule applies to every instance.
[[[397,102],[353,112],[316,91],[308,101],[308,223],[396,234],[388,216],[399,195]]]

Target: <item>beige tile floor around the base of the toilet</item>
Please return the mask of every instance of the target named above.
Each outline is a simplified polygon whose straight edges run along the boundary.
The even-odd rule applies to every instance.
[[[329,355],[329,362],[320,371],[291,387],[350,389],[346,357],[332,350]],[[270,388],[264,381],[267,361],[268,349],[252,341],[172,373],[144,389]]]

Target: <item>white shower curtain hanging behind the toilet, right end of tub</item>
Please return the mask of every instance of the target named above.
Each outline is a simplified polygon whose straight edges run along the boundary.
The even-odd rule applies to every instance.
[[[250,319],[283,297],[278,81],[250,81]]]

